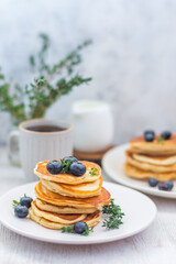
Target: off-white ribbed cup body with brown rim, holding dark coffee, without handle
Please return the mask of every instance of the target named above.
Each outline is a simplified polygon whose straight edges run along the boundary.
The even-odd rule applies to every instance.
[[[57,132],[31,131],[31,127],[55,125]],[[33,119],[22,122],[20,129],[20,156],[26,180],[36,180],[33,169],[36,163],[73,155],[73,125],[58,120]]]

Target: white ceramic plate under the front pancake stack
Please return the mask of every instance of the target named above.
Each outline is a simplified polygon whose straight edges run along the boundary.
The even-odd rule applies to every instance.
[[[110,242],[141,232],[152,223],[156,216],[156,207],[146,196],[117,184],[105,183],[103,186],[111,193],[116,204],[121,206],[122,211],[125,212],[123,224],[120,226],[120,229],[109,231],[102,228],[102,222],[100,222],[88,237],[62,233],[59,230],[43,228],[30,219],[14,217],[12,200],[19,200],[24,194],[35,198],[35,184],[36,182],[14,188],[0,198],[0,221],[2,224],[21,235],[35,240],[62,244]]]

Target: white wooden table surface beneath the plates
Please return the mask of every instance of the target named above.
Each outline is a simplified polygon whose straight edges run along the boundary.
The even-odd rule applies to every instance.
[[[106,175],[103,179],[111,182]],[[7,150],[0,147],[0,194],[24,183],[22,169],[10,166]],[[176,200],[151,198],[158,209],[151,227],[134,237],[99,245],[38,242],[0,224],[0,264],[175,264]]]

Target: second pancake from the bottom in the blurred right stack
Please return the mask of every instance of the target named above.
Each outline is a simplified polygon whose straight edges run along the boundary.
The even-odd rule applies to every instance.
[[[132,166],[146,170],[146,172],[154,172],[154,173],[169,173],[169,172],[176,172],[176,164],[170,166],[158,166],[153,165],[150,163],[143,163],[134,160],[130,153],[127,152],[127,162],[131,164]]]

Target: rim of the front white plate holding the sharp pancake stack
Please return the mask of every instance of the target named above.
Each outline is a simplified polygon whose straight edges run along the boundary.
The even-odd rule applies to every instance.
[[[36,184],[37,182],[32,182],[32,183],[28,183],[28,184],[24,184],[24,185],[20,185],[20,186],[16,186],[16,187],[14,187],[14,188],[12,188],[12,189],[10,189],[9,191],[7,191],[6,194],[3,194],[2,196],[0,196],[0,201],[1,201],[1,199],[3,199],[4,197],[7,197],[8,196],[8,194],[10,194],[11,191],[15,191],[18,188],[20,188],[20,187],[23,187],[23,186],[28,186],[28,185],[34,185],[34,184]],[[141,227],[140,229],[135,229],[133,232],[130,232],[130,234],[129,233],[124,233],[124,234],[122,234],[121,237],[119,237],[119,238],[117,238],[117,235],[112,235],[112,237],[110,237],[110,238],[99,238],[99,239],[97,239],[97,240],[88,240],[88,241],[70,241],[70,239],[68,239],[68,240],[62,240],[62,239],[58,239],[58,240],[52,240],[51,238],[45,238],[45,239],[43,239],[43,238],[40,238],[37,234],[35,235],[35,234],[30,234],[30,233],[26,233],[25,231],[23,231],[23,230],[19,230],[18,228],[15,228],[15,227],[13,227],[12,224],[10,224],[10,223],[8,223],[8,222],[6,222],[2,218],[1,218],[1,216],[0,216],[0,223],[3,226],[3,227],[6,227],[7,229],[9,229],[10,231],[13,231],[14,233],[18,233],[18,234],[20,234],[20,235],[22,235],[22,237],[24,237],[24,238],[29,238],[29,239],[33,239],[33,240],[36,240],[36,241],[42,241],[42,242],[48,242],[48,243],[54,243],[54,244],[73,244],[73,245],[77,245],[77,244],[81,244],[81,245],[86,245],[86,244],[102,244],[102,243],[109,243],[109,242],[113,242],[113,241],[120,241],[120,240],[123,240],[123,239],[125,239],[125,238],[130,238],[130,237],[133,237],[134,234],[138,234],[138,233],[140,233],[140,232],[142,232],[143,230],[145,230],[145,229],[147,229],[148,228],[148,226],[151,226],[151,223],[155,220],[155,218],[156,218],[156,215],[157,215],[157,207],[156,207],[156,205],[155,205],[155,202],[150,198],[150,197],[147,197],[147,196],[145,196],[144,194],[142,194],[142,193],[140,193],[140,191],[138,191],[138,190],[134,190],[134,189],[131,189],[131,188],[129,188],[129,187],[125,187],[125,186],[121,186],[121,185],[117,185],[117,184],[114,184],[114,183],[110,183],[110,182],[103,182],[103,184],[105,185],[111,185],[111,186],[118,186],[118,188],[122,188],[122,189],[128,189],[128,190],[130,190],[130,191],[132,191],[132,193],[138,193],[138,194],[140,194],[141,196],[143,196],[143,197],[145,197],[145,199],[146,200],[148,200],[150,202],[151,202],[151,205],[153,206],[153,209],[154,209],[154,213],[153,213],[153,218],[151,218],[151,220],[145,224],[145,226],[143,226],[143,227]]]

